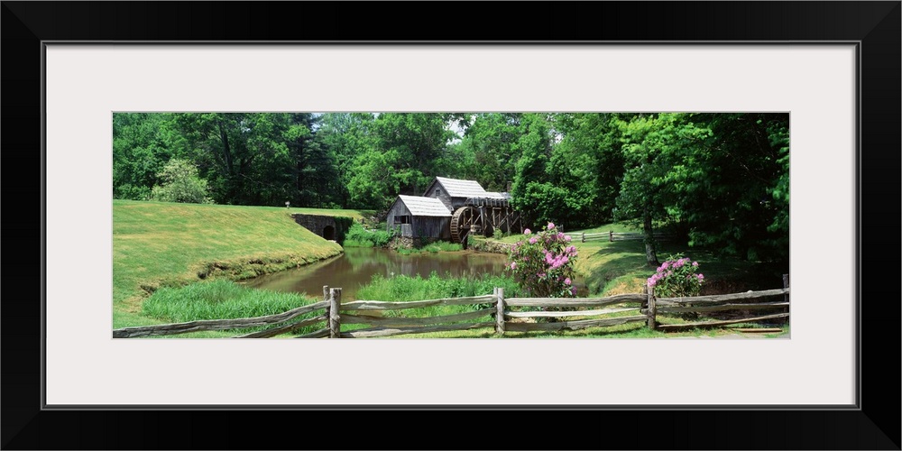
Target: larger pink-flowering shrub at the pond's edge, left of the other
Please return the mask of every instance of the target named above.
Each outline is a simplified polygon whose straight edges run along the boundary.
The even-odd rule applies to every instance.
[[[558,232],[553,223],[514,244],[510,252],[507,271],[528,296],[536,298],[572,298],[576,295],[573,265],[575,246],[569,244],[570,236]]]

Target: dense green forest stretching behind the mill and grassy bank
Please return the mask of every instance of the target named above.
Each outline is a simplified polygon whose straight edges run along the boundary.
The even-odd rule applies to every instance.
[[[530,224],[633,221],[788,262],[788,114],[113,116],[114,198],[383,211],[436,176],[510,187]]]

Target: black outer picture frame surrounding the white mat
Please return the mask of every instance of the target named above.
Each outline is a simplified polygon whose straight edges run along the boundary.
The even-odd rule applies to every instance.
[[[40,244],[38,252],[17,255],[14,262],[3,267],[5,281],[20,287],[12,293],[7,290],[0,316],[4,449],[900,449],[899,396],[895,387],[879,382],[900,380],[897,232],[902,203],[902,3],[898,1],[522,2],[492,7],[441,2],[2,4],[5,133],[0,140],[6,157],[8,214],[3,229],[15,243]],[[419,20],[410,20],[411,16]],[[554,20],[556,17],[560,19]],[[43,299],[38,293],[45,282],[45,211],[36,195],[43,193],[46,182],[43,42],[373,39],[550,44],[858,42],[860,264],[856,279],[861,334],[856,337],[856,408],[42,409]],[[864,215],[864,207],[868,207],[868,215]],[[353,431],[330,429],[330,425],[342,424],[353,425]],[[397,426],[401,424],[404,426]],[[585,424],[594,427],[576,426]],[[653,432],[649,432],[652,426]],[[418,443],[414,439],[417,436],[409,433],[413,430],[425,430],[437,441]],[[489,431],[497,441],[482,442],[475,438],[479,436],[472,433],[474,430]]]

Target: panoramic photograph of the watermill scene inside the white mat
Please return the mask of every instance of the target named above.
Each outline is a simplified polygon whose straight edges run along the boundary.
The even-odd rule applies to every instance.
[[[789,338],[789,114],[113,117],[114,338]]]

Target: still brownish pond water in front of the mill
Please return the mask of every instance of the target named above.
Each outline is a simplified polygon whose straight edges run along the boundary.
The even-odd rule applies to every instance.
[[[342,289],[342,300],[356,299],[357,289],[369,283],[373,274],[384,277],[405,274],[423,278],[431,272],[440,277],[482,274],[501,275],[507,255],[460,251],[449,253],[415,253],[401,255],[380,248],[348,247],[345,253],[323,262],[315,262],[298,269],[257,277],[244,284],[262,290],[306,292],[314,298],[322,297],[323,285]]]

